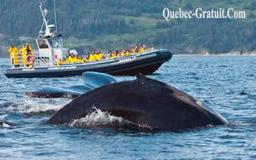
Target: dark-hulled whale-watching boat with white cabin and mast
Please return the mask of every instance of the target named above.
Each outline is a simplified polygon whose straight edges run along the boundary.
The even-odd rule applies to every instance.
[[[51,32],[55,26],[48,25],[45,20],[48,11],[42,10],[42,3],[39,6],[44,20],[42,28],[45,25],[45,31],[41,28],[36,38],[38,52],[33,54],[12,52],[12,66],[4,73],[6,77],[66,77],[82,75],[86,71],[120,76],[136,73],[152,74],[172,58],[172,52],[152,48],[127,56],[59,65],[58,60],[65,58],[68,49],[63,48],[61,35],[58,35],[57,31]]]

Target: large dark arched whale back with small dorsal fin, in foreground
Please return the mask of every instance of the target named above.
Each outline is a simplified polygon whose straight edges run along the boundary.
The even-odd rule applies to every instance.
[[[73,99],[42,124],[65,125],[92,114],[95,108],[132,124],[148,126],[150,131],[184,131],[228,124],[200,100],[143,74],[136,74],[133,81],[101,84]],[[129,129],[129,125],[126,127]]]

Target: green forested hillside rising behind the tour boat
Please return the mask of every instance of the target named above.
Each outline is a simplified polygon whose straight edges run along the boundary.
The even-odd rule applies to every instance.
[[[1,56],[7,56],[10,44],[20,47],[33,42],[41,28],[40,1],[0,0]],[[42,1],[54,24],[53,1]],[[218,54],[250,52],[256,49],[256,1],[248,0],[55,0],[58,33],[64,47],[88,52],[131,48],[147,44],[171,49],[175,53]],[[163,18],[163,9],[218,10],[234,8],[246,11],[246,19],[172,19]]]

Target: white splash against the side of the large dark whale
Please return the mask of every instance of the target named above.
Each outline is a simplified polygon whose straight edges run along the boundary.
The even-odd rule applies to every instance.
[[[67,124],[71,127],[79,127],[86,129],[95,128],[111,128],[111,129],[131,129],[140,131],[152,131],[152,128],[147,125],[134,124],[129,120],[125,120],[122,117],[113,116],[108,113],[108,111],[101,111],[93,107],[95,111],[86,115],[83,118],[73,120],[71,123]]]

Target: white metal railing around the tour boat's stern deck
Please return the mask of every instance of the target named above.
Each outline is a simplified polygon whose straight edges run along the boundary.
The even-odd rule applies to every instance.
[[[28,57],[31,54],[33,59]],[[39,52],[26,52],[26,53],[11,53],[11,68],[29,67],[29,62],[33,61],[33,67],[46,67],[56,65],[54,58],[40,56]]]

